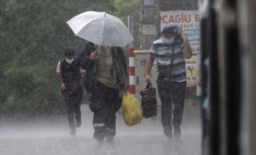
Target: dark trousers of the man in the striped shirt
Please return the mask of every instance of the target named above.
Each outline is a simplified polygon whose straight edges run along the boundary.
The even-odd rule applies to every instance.
[[[187,82],[165,82],[157,81],[158,94],[161,99],[161,122],[163,127],[178,127],[182,122],[182,115],[185,102],[185,89]],[[172,101],[174,109],[172,111]]]

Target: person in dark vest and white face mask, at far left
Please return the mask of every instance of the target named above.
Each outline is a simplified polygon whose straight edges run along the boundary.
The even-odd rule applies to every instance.
[[[70,134],[76,134],[76,127],[81,126],[80,105],[83,96],[83,77],[85,70],[79,68],[78,61],[74,60],[75,51],[65,50],[65,58],[59,61],[56,74],[61,83],[61,93],[67,104],[67,116]],[[74,122],[74,114],[75,120]]]

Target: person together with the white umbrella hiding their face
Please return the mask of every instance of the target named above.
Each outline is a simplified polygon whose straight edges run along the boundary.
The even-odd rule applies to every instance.
[[[91,93],[94,112],[94,138],[99,142],[113,141],[116,135],[116,112],[122,98],[119,91],[128,91],[129,79],[122,48],[134,40],[125,24],[106,12],[86,11],[67,24],[88,42],[80,50],[78,60],[86,69],[84,87]]]

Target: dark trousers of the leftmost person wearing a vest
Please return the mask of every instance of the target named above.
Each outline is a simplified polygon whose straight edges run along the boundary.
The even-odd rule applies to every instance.
[[[75,129],[75,122],[74,122],[74,114],[76,122],[81,122],[81,101],[83,97],[83,87],[79,87],[78,91],[72,92],[64,90],[62,92],[65,102],[67,104],[67,119],[69,123],[69,127],[71,129]]]

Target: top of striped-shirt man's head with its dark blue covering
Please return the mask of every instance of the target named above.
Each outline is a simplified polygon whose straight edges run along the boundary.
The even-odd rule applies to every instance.
[[[171,39],[181,35],[181,28],[178,26],[167,26],[161,31],[165,39]]]

